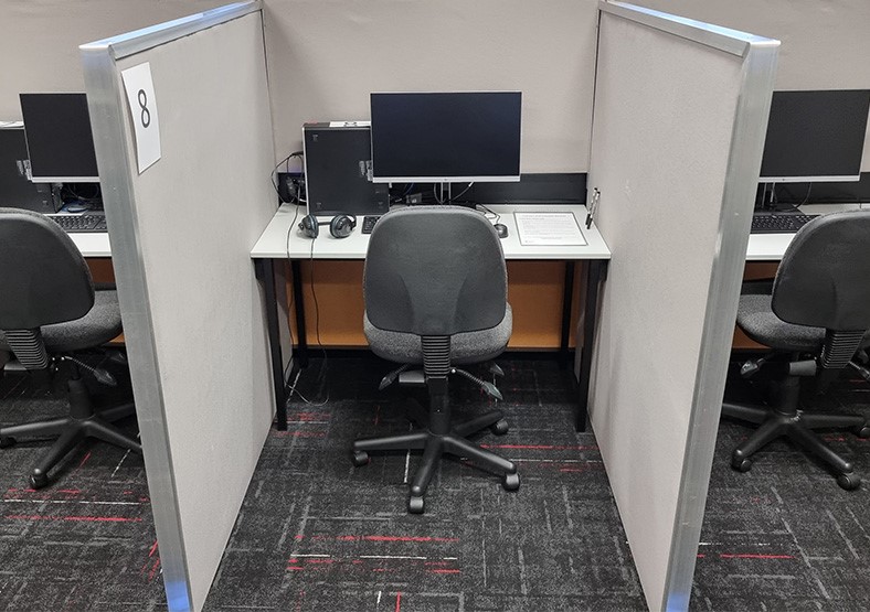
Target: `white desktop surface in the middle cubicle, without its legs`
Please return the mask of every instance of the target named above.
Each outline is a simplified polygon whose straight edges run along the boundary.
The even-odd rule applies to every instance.
[[[598,229],[593,225],[586,229],[586,207],[574,204],[487,204],[497,213],[498,223],[508,226],[508,236],[501,239],[506,259],[609,259],[611,251]],[[517,230],[513,213],[530,212],[571,212],[580,225],[586,246],[522,246]],[[316,240],[303,236],[296,227],[305,216],[305,207],[282,204],[275,216],[251,249],[252,259],[364,259],[369,245],[369,234],[362,233],[362,217],[357,219],[357,228],[347,238],[333,238],[328,226],[320,226]],[[491,216],[491,215],[490,215]],[[319,217],[329,221],[331,216]],[[490,219],[496,223],[495,219]],[[295,222],[295,223],[294,223]],[[314,246],[314,251],[311,247]]]

